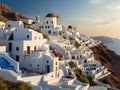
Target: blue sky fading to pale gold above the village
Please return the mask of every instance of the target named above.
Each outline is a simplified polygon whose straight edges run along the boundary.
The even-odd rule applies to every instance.
[[[59,24],[73,25],[81,34],[120,38],[120,0],[0,0],[14,12],[34,19],[59,15]]]

